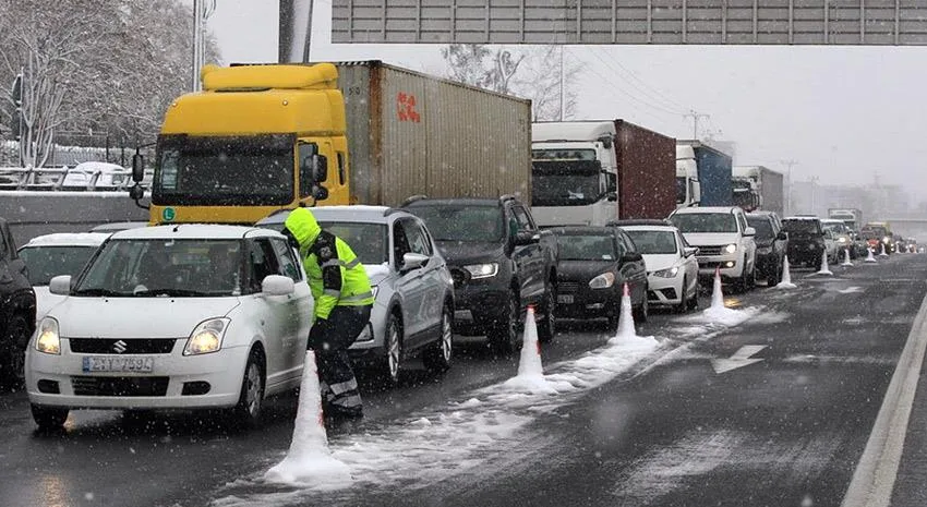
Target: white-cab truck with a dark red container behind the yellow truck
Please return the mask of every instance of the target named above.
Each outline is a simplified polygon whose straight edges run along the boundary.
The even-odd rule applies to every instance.
[[[675,208],[672,137],[624,120],[532,125],[532,201],[543,227],[665,218]]]

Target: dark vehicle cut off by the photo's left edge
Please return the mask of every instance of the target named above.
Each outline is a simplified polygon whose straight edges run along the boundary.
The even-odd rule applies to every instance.
[[[0,386],[23,384],[26,343],[35,331],[35,291],[7,220],[0,218]]]

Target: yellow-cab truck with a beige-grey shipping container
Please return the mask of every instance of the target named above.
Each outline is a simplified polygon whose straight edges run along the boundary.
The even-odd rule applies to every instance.
[[[529,100],[380,61],[206,65],[202,81],[165,114],[153,224],[418,194],[530,200]]]

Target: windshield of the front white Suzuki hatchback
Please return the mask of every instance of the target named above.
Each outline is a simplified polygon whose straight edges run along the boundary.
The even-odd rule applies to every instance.
[[[75,295],[222,297],[241,293],[240,240],[111,240]]]

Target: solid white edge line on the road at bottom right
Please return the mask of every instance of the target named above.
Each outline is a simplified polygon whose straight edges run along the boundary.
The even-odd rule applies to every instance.
[[[911,326],[866,450],[856,464],[841,507],[888,507],[891,502],[925,349],[927,297]]]

